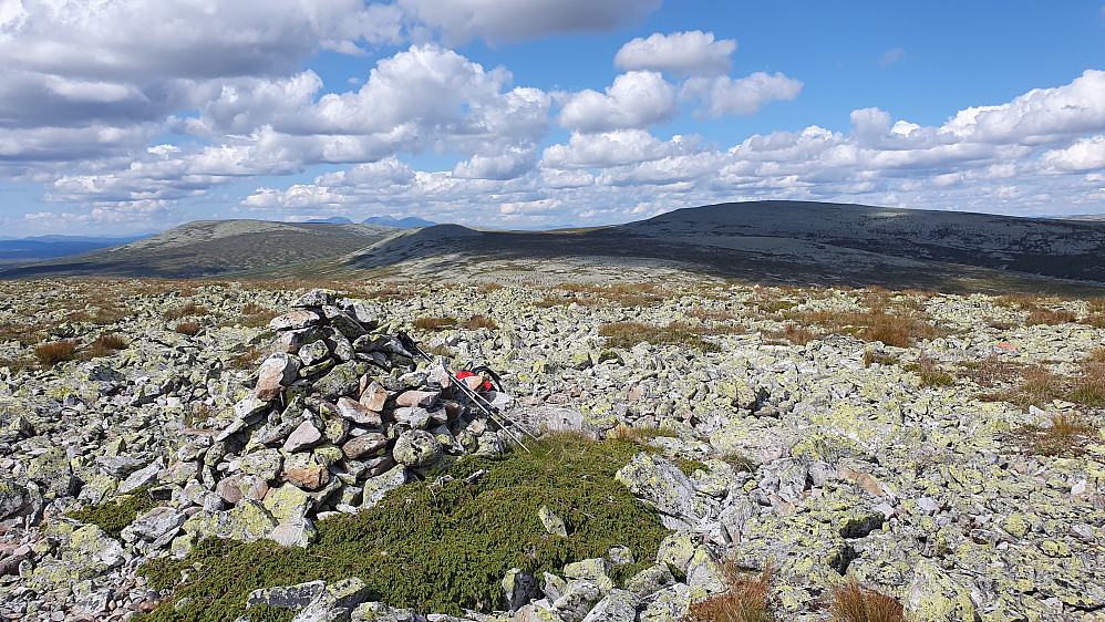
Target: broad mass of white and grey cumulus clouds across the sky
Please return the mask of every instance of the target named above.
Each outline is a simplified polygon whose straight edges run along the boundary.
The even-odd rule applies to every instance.
[[[622,73],[574,91],[447,46],[610,30],[660,0],[520,6],[2,0],[0,180],[42,185],[56,209],[18,218],[42,227],[151,228],[197,203],[540,227],[758,198],[1009,214],[1105,200],[1105,72],[939,125],[867,107],[846,131],[719,143],[665,127],[756,115],[802,97],[801,76],[734,72],[737,42],[699,30],[632,39],[611,59]],[[303,69],[316,53],[364,58],[358,86]],[[423,155],[446,164],[420,169]]]

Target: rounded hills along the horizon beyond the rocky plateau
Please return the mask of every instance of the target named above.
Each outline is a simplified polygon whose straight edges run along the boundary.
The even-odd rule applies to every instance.
[[[586,274],[588,267],[619,265],[756,282],[1101,296],[1105,221],[801,201],[721,204],[549,231],[197,221],[0,277],[371,278],[421,271],[458,278],[483,270],[494,278],[496,269]]]

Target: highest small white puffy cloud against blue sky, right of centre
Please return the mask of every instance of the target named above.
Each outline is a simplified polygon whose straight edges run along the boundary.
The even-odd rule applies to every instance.
[[[654,33],[626,43],[615,55],[615,65],[629,70],[652,70],[675,75],[716,75],[727,73],[730,55],[736,41],[714,41],[712,32],[692,30],[671,34]]]

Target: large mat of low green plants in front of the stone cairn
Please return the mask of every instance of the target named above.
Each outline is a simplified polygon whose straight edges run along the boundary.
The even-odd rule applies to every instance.
[[[233,620],[246,614],[250,590],[348,577],[360,577],[373,598],[393,607],[459,615],[462,608],[500,608],[512,567],[559,573],[613,545],[628,546],[639,560],[655,558],[668,531],[654,508],[613,479],[639,446],[557,435],[530,449],[497,462],[465,458],[442,474],[452,481],[401,486],[369,510],[321,521],[307,549],[206,539],[184,560],[146,563],[140,572],[157,589],[190,574],[175,598],[192,601],[179,610],[164,602],[142,620]],[[464,481],[481,469],[478,481]],[[567,538],[545,532],[541,506],[564,520]],[[623,581],[646,566],[616,567],[613,578]]]

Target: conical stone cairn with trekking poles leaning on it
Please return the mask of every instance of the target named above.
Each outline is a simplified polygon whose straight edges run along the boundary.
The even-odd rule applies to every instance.
[[[291,307],[269,324],[276,352],[233,419],[195,431],[177,452],[177,465],[202,465],[183,494],[204,511],[166,510],[184,530],[174,554],[208,536],[307,546],[314,519],[372,507],[412,477],[464,454],[497,455],[509,442],[443,366],[419,370],[396,338],[378,332],[363,303],[312,290]]]

